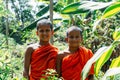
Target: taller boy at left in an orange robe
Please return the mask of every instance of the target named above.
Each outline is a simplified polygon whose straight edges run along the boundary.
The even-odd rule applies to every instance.
[[[58,49],[49,43],[53,35],[52,24],[43,19],[37,22],[39,42],[27,47],[24,58],[23,76],[27,80],[40,80],[46,69],[54,69]]]

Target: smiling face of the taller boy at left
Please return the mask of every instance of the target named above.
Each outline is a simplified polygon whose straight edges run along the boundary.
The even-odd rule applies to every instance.
[[[40,41],[49,41],[53,35],[53,30],[51,30],[49,25],[40,25],[37,30],[37,35],[40,38]]]

